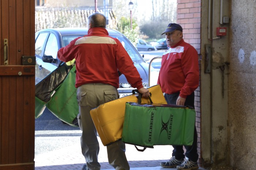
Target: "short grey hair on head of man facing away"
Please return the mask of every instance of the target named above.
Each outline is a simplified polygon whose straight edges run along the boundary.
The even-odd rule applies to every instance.
[[[91,23],[91,27],[101,27],[101,28],[106,28],[106,17],[99,13],[95,12],[92,15],[88,17],[88,24]]]

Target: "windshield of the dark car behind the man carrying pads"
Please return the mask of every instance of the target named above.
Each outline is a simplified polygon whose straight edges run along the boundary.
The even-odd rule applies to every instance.
[[[77,38],[79,36],[82,37],[84,35],[62,36],[64,47],[67,46],[72,40],[74,40],[75,38]],[[140,57],[140,54],[136,51],[136,49],[132,46],[132,44],[130,42],[128,42],[128,40],[126,38],[124,38],[123,36],[120,36],[120,35],[110,35],[110,36],[112,36],[113,38],[117,38],[122,43],[122,45],[124,46],[124,49],[127,51],[129,56],[131,57],[133,63],[142,63],[143,62],[143,59]]]

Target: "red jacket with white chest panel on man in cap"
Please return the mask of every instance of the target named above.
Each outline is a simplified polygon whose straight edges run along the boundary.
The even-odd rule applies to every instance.
[[[199,85],[199,66],[196,49],[182,39],[162,56],[158,84],[163,92],[180,92],[186,98]]]

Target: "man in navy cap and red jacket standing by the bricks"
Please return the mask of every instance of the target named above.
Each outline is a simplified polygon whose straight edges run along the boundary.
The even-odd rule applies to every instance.
[[[165,34],[167,46],[170,47],[162,56],[161,69],[158,84],[165,93],[168,104],[194,106],[194,91],[199,85],[199,66],[196,49],[184,42],[182,27],[179,24],[170,23]],[[168,162],[161,162],[165,168],[177,167],[177,169],[198,169],[197,160],[197,132],[194,130],[192,146],[173,146],[172,158]],[[185,160],[184,160],[185,158]]]

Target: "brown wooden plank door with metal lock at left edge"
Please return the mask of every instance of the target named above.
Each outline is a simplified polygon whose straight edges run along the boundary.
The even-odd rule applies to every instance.
[[[0,5],[0,170],[33,170],[35,0]]]

